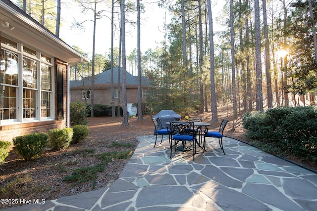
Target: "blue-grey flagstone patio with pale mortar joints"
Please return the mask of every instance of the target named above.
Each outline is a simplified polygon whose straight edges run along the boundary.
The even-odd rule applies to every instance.
[[[224,138],[207,139],[207,152],[172,152],[168,136],[138,144],[110,188],[6,211],[315,211],[317,173]]]

